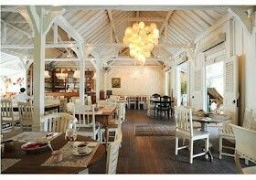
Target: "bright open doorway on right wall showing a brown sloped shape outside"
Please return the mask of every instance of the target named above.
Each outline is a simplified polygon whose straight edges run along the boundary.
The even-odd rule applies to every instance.
[[[223,112],[224,63],[214,62],[206,65],[206,111]]]

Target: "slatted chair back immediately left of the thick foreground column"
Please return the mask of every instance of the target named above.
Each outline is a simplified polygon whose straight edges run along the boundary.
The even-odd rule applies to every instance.
[[[32,131],[34,111],[31,102],[17,102],[22,131]]]

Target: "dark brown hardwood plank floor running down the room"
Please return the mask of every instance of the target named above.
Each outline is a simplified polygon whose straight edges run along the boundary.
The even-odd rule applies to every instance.
[[[213,162],[200,156],[189,164],[189,151],[180,150],[175,155],[175,138],[171,136],[135,136],[134,124],[169,124],[173,119],[148,118],[146,111],[128,110],[123,122],[123,143],[120,149],[117,174],[236,174],[233,157],[219,160],[218,128],[209,127],[213,143]],[[197,151],[197,150],[196,150]],[[106,155],[90,168],[91,174],[104,174]]]

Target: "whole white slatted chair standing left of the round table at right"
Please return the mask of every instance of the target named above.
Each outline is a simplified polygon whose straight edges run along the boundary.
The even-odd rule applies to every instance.
[[[190,158],[189,163],[193,163],[193,158],[201,155],[206,155],[208,157],[208,132],[201,132],[193,129],[192,122],[192,110],[190,108],[179,106],[176,107],[175,119],[176,119],[176,152],[177,155],[178,150],[189,147],[190,148]],[[178,146],[178,138],[187,139],[189,141],[189,145]],[[193,144],[196,140],[205,140],[205,152],[200,154],[193,154]]]

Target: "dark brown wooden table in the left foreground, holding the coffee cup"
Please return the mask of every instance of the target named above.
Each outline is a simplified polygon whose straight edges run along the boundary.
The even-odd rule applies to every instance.
[[[63,147],[67,142],[65,139],[65,133],[61,133],[56,139],[51,141],[52,148],[58,150]],[[80,142],[95,142],[91,138],[78,135],[76,141]],[[41,166],[51,156],[51,151],[48,149],[45,152],[38,154],[27,154],[21,150],[20,146],[23,143],[15,143],[15,151],[11,153],[5,153],[4,158],[17,158],[21,161],[17,162],[13,166],[7,168],[2,174],[76,174],[86,169],[84,167],[63,167],[63,166]],[[100,144],[98,150],[91,159],[87,168],[90,168],[92,164],[96,164],[105,154],[105,147]]]

